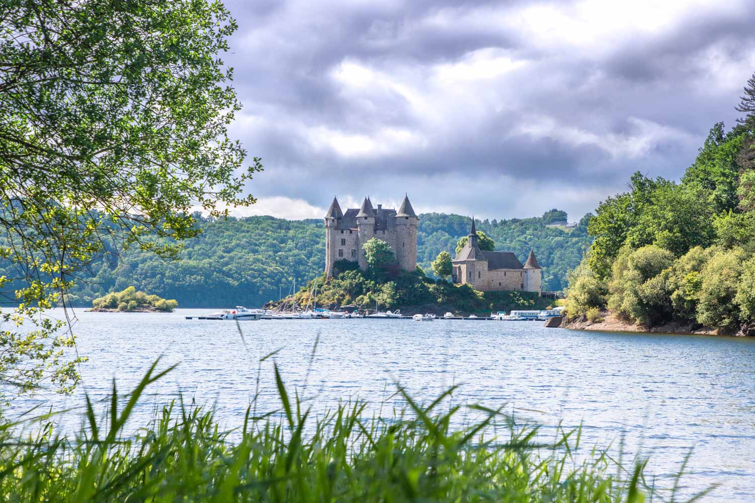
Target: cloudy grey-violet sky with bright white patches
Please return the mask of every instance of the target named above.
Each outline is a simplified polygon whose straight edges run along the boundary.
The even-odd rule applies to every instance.
[[[679,179],[755,72],[751,0],[226,0],[230,126],[265,170],[237,216],[398,207],[578,220]]]

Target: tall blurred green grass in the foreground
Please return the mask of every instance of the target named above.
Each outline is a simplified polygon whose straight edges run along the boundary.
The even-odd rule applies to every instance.
[[[341,404],[314,417],[288,398],[278,368],[282,409],[222,431],[213,413],[174,402],[131,437],[124,425],[145,388],[168,372],[156,364],[119,399],[113,385],[107,420],[86,400],[86,422],[74,437],[48,423],[31,437],[2,427],[3,501],[646,501],[643,463],[627,471],[593,449],[575,460],[579,430],[552,445],[536,428],[517,428],[499,411],[451,428],[460,407],[445,393],[407,406],[390,421],[364,419],[364,404]],[[119,407],[119,403],[121,406]],[[444,412],[439,412],[443,407]],[[495,435],[495,431],[504,431]]]

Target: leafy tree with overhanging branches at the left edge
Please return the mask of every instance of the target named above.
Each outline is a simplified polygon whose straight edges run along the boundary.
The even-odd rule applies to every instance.
[[[254,158],[227,136],[240,109],[220,52],[236,22],[220,2],[26,2],[0,16],[0,258],[11,264],[11,317],[0,374],[29,391],[51,379],[70,391],[71,333],[42,318],[79,271],[137,246],[168,258],[241,195]],[[172,241],[165,241],[169,238]],[[8,324],[6,324],[8,325]]]

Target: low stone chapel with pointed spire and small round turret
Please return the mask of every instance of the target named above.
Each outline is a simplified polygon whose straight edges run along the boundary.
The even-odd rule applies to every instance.
[[[467,244],[454,259],[451,277],[455,284],[470,284],[482,292],[520,290],[542,293],[542,269],[530,251],[525,265],[511,252],[479,249],[474,218]]]

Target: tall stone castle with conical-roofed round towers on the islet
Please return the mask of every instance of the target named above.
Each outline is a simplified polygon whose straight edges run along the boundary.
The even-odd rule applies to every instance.
[[[371,238],[378,238],[390,245],[400,268],[414,271],[417,268],[417,226],[419,218],[404,197],[399,210],[372,207],[370,198],[365,198],[361,208],[341,211],[337,198],[325,214],[325,275],[331,278],[333,264],[337,260],[359,262],[367,268],[364,245]]]

